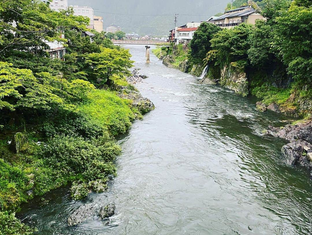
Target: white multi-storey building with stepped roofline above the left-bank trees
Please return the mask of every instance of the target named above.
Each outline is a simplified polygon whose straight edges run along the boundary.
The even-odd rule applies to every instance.
[[[73,11],[74,11],[74,16],[87,16],[90,19],[90,23],[87,26],[87,28],[89,29],[93,29],[94,28],[94,11],[92,7],[84,7],[84,6],[68,6],[68,2],[67,0],[52,0],[52,2],[50,2],[50,8],[54,11],[59,11],[61,10],[66,10],[68,7],[72,7]]]

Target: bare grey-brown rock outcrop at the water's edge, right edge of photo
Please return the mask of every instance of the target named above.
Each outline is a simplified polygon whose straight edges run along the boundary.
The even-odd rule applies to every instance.
[[[269,126],[266,134],[289,141],[281,149],[285,161],[306,167],[312,177],[312,120],[301,120],[280,128]]]

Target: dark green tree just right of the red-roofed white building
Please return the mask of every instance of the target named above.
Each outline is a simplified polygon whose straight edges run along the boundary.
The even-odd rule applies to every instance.
[[[212,36],[220,31],[221,28],[214,25],[203,22],[193,35],[193,39],[189,43],[188,58],[194,64],[201,64],[205,59],[208,51],[211,50],[210,40]]]

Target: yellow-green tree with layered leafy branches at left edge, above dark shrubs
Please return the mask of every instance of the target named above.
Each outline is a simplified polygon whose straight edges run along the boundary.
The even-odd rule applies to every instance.
[[[70,99],[93,88],[88,82],[69,83],[46,72],[35,75],[29,69],[13,68],[12,64],[0,62],[0,110],[51,110],[53,106],[73,110]]]

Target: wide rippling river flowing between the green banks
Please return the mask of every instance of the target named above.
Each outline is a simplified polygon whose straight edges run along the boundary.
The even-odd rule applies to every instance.
[[[68,188],[22,206],[38,234],[312,234],[312,188],[305,169],[287,166],[284,141],[263,136],[282,116],[255,109],[219,86],[165,67],[144,45],[127,45],[149,78],[136,84],[156,109],[118,140],[123,153],[104,193],[71,200]],[[116,204],[105,225],[97,217],[69,227],[88,203]]]

